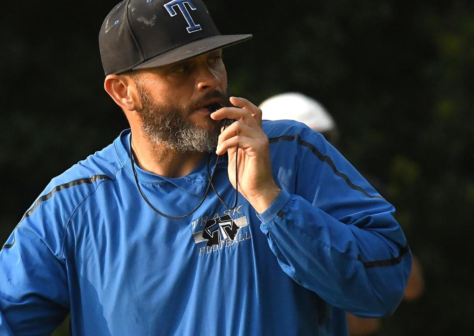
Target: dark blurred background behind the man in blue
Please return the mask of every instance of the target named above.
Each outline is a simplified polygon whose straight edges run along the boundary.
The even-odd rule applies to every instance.
[[[127,127],[97,41],[116,3],[2,3],[1,242],[53,176]],[[426,287],[381,335],[473,335],[474,2],[206,3],[222,33],[254,34],[225,53],[232,94],[316,98],[342,153],[386,186]]]

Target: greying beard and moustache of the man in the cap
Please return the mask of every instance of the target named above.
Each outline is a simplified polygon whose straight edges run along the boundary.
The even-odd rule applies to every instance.
[[[223,121],[208,117],[206,123],[208,127],[202,128],[187,120],[186,116],[213,98],[219,99],[223,106],[229,106],[229,95],[226,96],[220,91],[209,92],[198,101],[190,102],[189,107],[184,109],[157,104],[139,82],[136,86],[140,95],[140,108],[137,112],[142,119],[142,132],[153,144],[164,145],[180,152],[215,150],[221,127],[224,125]]]

